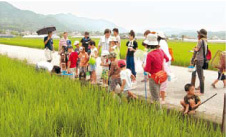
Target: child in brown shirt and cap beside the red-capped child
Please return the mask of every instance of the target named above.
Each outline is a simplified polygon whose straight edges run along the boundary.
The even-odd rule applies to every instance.
[[[118,67],[118,61],[116,60],[116,53],[111,52],[109,54],[109,59],[111,61],[111,68],[109,71],[110,79],[110,91],[115,92],[117,84],[122,85],[120,79],[120,68]]]

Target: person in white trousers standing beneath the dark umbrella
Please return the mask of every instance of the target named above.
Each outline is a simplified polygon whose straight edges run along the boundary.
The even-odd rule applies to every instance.
[[[53,39],[52,39],[53,32],[49,31],[48,36],[44,37],[44,45],[45,45],[45,57],[47,62],[51,62],[53,59]]]

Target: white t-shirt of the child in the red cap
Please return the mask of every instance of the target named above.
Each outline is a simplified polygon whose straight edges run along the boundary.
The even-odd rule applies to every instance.
[[[130,69],[125,69],[120,72],[121,80],[126,80],[124,91],[132,89],[131,75],[132,75],[132,72]]]

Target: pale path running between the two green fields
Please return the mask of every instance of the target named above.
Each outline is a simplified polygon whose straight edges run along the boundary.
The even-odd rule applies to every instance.
[[[10,58],[17,58],[20,60],[27,60],[30,64],[35,64],[39,61],[45,60],[44,57],[44,50],[40,49],[33,49],[33,48],[26,48],[26,47],[19,47],[19,46],[9,46],[9,45],[2,45],[0,44],[0,54],[7,55]],[[58,65],[59,64],[59,56],[57,55],[57,52],[54,53],[54,60],[53,64]],[[100,59],[97,60],[97,74],[100,75],[101,73],[101,67],[99,66]],[[137,88],[133,90],[135,94],[144,96],[144,83],[141,83],[140,81],[143,79],[143,72],[139,68],[141,62],[136,62],[137,64]],[[166,103],[167,104],[174,104],[177,106],[180,106],[179,102],[181,99],[183,99],[184,95],[186,94],[184,91],[184,85],[186,83],[190,82],[191,79],[191,73],[187,71],[187,68],[184,67],[177,67],[172,66],[171,67],[172,72],[175,75],[175,79],[172,82],[169,82],[168,84],[168,90],[167,90],[167,97],[166,97]],[[205,100],[208,97],[212,96],[214,93],[217,93],[217,96],[215,96],[210,101],[203,104],[200,108],[198,108],[199,112],[204,112],[204,114],[209,114],[214,119],[221,119],[222,118],[222,112],[223,112],[223,97],[224,97],[224,91],[223,89],[223,83],[219,82],[217,85],[217,89],[213,89],[210,85],[211,83],[217,78],[217,72],[216,71],[209,71],[205,70],[205,95],[201,96],[201,100]],[[197,84],[198,85],[198,80]],[[147,84],[147,90],[148,90],[148,84]],[[150,96],[149,90],[147,91],[148,97]],[[166,104],[166,105],[167,105]]]

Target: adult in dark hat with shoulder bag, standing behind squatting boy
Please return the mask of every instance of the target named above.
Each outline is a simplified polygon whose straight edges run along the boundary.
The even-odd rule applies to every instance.
[[[197,46],[194,48],[194,54],[191,59],[191,65],[196,66],[196,70],[192,72],[191,84],[195,86],[196,73],[198,73],[200,82],[199,83],[200,92],[198,93],[198,95],[203,95],[204,94],[203,65],[204,65],[204,54],[205,55],[207,54],[207,31],[205,29],[201,29],[200,31],[197,31],[197,33],[198,33],[198,43]]]

